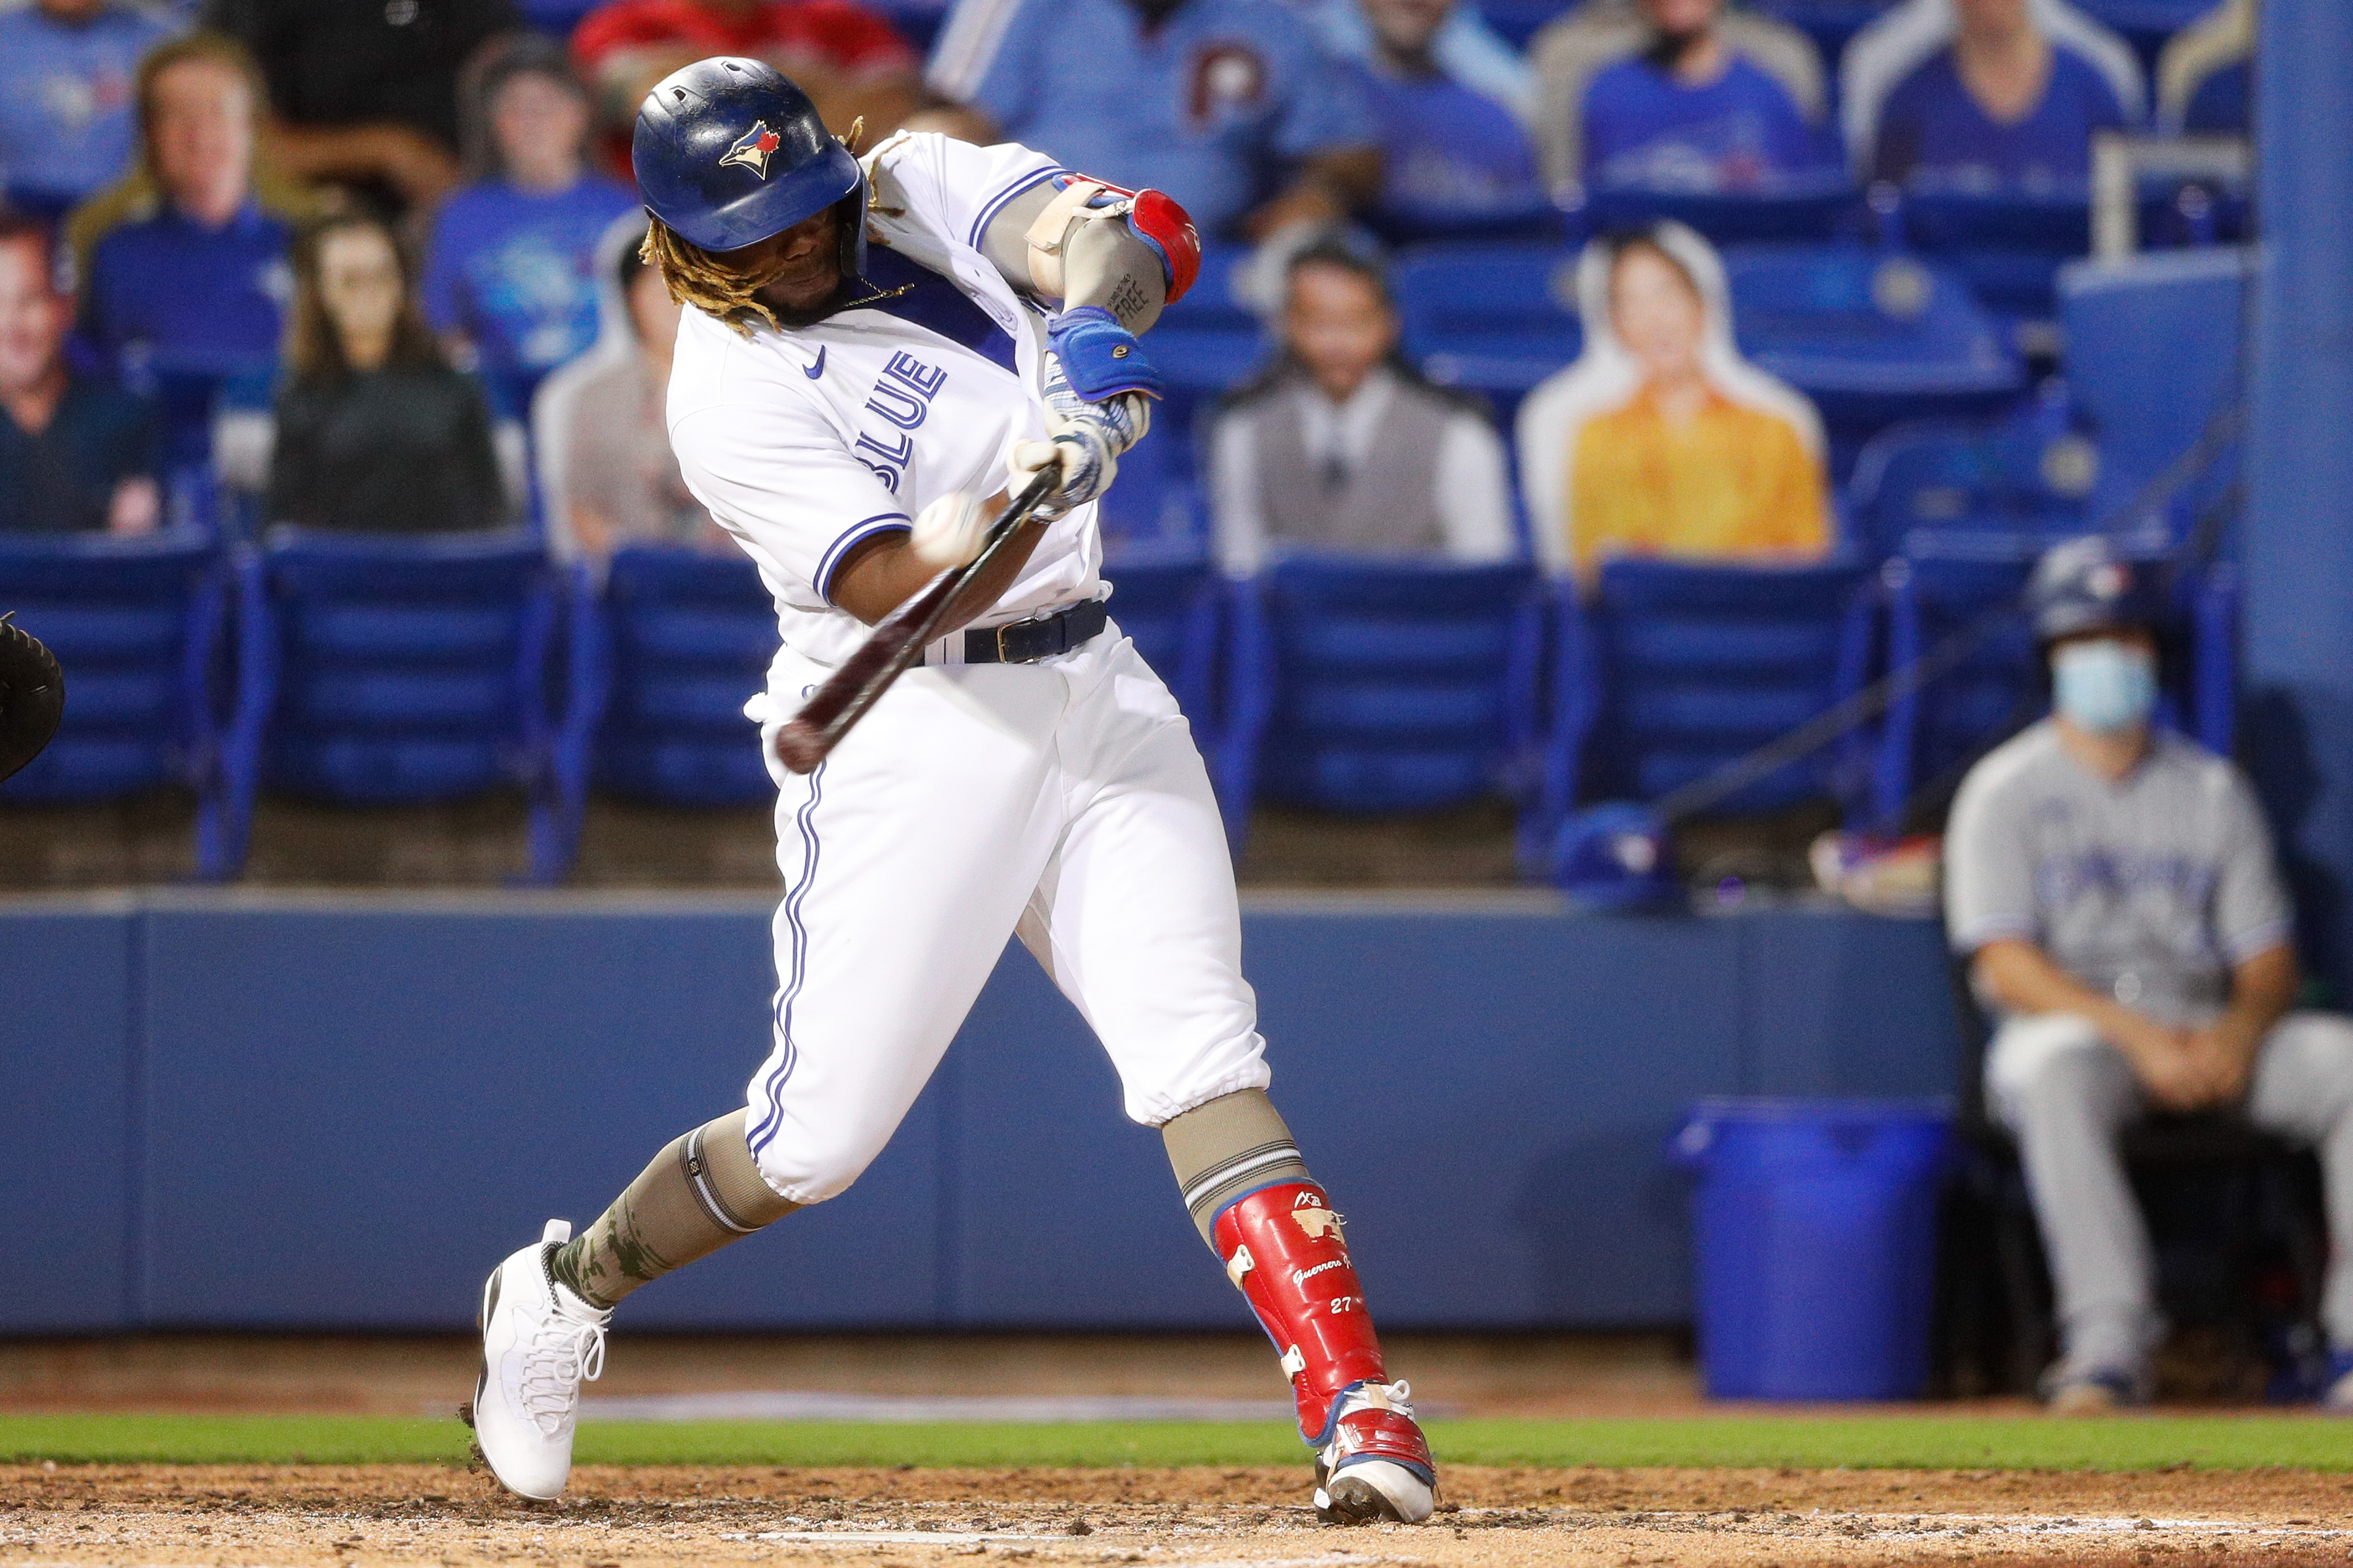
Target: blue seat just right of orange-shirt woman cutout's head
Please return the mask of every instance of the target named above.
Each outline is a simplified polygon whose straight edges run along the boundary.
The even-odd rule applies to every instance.
[[[1831,470],[1904,418],[1984,416],[2014,400],[2026,367],[1951,273],[1859,244],[1741,244],[1725,252],[1741,353],[1821,409]]]

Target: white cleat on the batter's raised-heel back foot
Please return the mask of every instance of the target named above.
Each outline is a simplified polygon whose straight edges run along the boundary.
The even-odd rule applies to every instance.
[[[572,1239],[569,1220],[548,1220],[482,1286],[482,1375],[473,1385],[473,1436],[499,1483],[541,1502],[572,1474],[572,1429],[581,1382],[605,1373],[600,1312],[555,1284],[548,1255]]]

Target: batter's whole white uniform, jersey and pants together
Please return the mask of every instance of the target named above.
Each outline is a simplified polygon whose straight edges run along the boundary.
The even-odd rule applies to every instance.
[[[951,491],[1000,489],[1012,442],[1045,435],[1045,317],[979,242],[1056,165],[922,134],[866,162],[885,242],[868,280],[906,292],[751,336],[687,310],[671,369],[687,487],[776,595],[784,649],[748,708],[762,741],[866,637],[826,597],[849,548]],[[981,625],[1106,595],[1099,564],[1094,508],[1075,508]],[[746,1143],[781,1197],[856,1180],[1009,936],[1094,1025],[1132,1119],[1266,1086],[1217,799],[1118,628],[1028,665],[908,670],[816,771],[786,773],[774,750],[769,771],[776,1013]]]

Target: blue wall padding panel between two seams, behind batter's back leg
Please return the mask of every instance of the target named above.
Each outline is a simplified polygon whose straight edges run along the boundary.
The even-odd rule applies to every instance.
[[[468,1321],[482,1276],[741,1103],[765,905],[151,917],[146,1321]],[[936,1319],[939,1124],[631,1302],[647,1328]]]

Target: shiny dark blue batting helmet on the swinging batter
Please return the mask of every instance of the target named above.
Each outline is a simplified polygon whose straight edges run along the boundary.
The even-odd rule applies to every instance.
[[[732,252],[842,205],[842,273],[866,261],[866,172],[809,94],[755,59],[715,56],[645,94],[628,160],[678,237]]]

